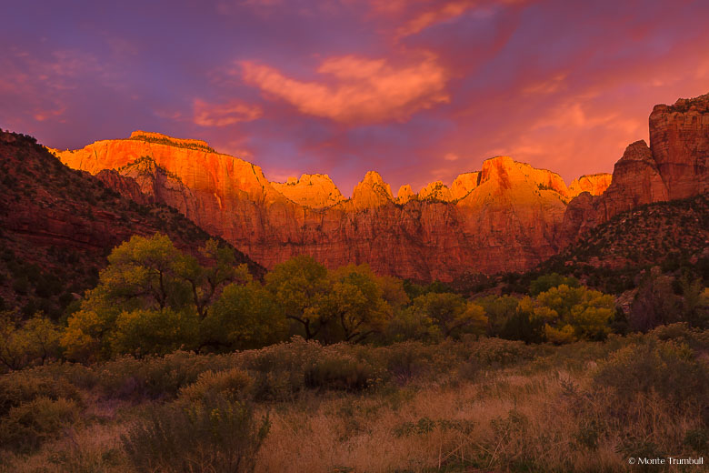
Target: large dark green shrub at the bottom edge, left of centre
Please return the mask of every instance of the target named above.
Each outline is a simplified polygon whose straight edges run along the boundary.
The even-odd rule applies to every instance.
[[[217,396],[189,408],[155,409],[129,429],[123,443],[135,471],[253,471],[269,427],[267,417],[255,419],[249,404]]]

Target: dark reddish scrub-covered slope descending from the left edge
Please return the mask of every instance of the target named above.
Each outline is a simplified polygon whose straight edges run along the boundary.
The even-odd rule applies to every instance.
[[[95,286],[113,247],[155,232],[190,252],[210,238],[174,209],[137,205],[64,166],[35,138],[0,130],[0,310],[59,317],[75,294]]]

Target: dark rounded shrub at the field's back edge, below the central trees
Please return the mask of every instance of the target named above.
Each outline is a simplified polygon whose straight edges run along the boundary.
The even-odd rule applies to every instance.
[[[362,359],[328,350],[305,368],[305,386],[357,391],[374,385],[377,370]]]

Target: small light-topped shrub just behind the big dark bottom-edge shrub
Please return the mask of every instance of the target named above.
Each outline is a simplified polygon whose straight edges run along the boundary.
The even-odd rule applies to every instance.
[[[238,367],[205,371],[194,383],[180,389],[179,398],[185,402],[199,402],[220,395],[229,400],[239,400],[250,396],[253,384],[254,379]]]

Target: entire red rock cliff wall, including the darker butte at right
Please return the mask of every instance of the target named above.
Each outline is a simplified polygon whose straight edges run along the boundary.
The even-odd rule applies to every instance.
[[[451,186],[436,181],[418,194],[402,186],[395,197],[376,172],[346,199],[328,176],[272,183],[258,166],[205,142],[145,132],[55,154],[91,174],[133,177],[151,201],[174,206],[265,267],[307,254],[328,267],[369,263],[382,274],[451,280],[524,270],[619,212],[705,192],[707,96],[656,106],[650,126],[651,145],[628,146],[613,176],[566,186],[556,173],[496,156]],[[142,198],[107,176],[100,178],[125,196]]]

